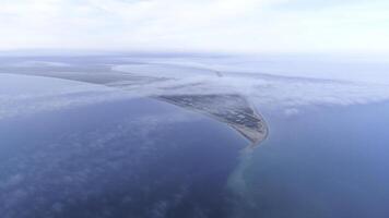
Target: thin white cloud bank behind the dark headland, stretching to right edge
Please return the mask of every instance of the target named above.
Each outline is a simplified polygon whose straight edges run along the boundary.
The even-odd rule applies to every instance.
[[[286,110],[310,105],[349,106],[389,99],[388,63],[342,58],[311,61],[294,57],[291,60],[280,57],[146,58],[144,61],[149,64],[123,64],[113,69],[175,78],[135,87],[137,92],[146,95],[236,92],[249,96],[260,106]]]

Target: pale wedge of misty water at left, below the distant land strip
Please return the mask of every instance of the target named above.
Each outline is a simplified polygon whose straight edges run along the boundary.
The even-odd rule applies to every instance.
[[[0,121],[133,97],[104,86],[24,75],[0,74]]]

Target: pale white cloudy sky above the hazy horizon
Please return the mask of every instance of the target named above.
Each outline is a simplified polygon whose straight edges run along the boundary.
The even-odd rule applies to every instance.
[[[0,0],[0,50],[387,52],[387,0]]]

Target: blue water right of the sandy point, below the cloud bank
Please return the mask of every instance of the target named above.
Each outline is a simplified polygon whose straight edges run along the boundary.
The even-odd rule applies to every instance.
[[[389,104],[266,117],[241,217],[389,217]]]

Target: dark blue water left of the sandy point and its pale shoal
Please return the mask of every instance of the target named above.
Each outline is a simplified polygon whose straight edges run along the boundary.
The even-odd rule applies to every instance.
[[[247,143],[153,99],[0,122],[0,217],[226,217]]]

